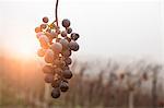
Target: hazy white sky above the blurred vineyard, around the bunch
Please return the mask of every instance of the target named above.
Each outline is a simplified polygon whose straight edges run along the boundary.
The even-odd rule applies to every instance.
[[[0,46],[35,52],[34,28],[54,10],[55,0],[0,0]],[[163,13],[163,0],[59,0],[60,21],[70,19],[81,35],[79,56],[162,59]]]

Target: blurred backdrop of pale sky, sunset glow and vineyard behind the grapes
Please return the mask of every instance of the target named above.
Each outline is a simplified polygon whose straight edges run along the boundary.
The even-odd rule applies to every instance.
[[[80,34],[70,89],[50,97],[35,27],[56,0],[0,0],[0,108],[164,108],[164,1],[59,0]]]

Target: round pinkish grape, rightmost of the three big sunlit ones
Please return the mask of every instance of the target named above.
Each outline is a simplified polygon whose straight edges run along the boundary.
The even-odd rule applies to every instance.
[[[60,43],[54,43],[50,48],[55,53],[59,53],[62,50],[62,45]]]

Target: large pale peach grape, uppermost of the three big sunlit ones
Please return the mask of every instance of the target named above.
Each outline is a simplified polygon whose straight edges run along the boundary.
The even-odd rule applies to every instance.
[[[43,48],[47,49],[48,48],[48,43],[49,43],[48,37],[46,35],[42,35],[42,36],[39,36],[38,39],[39,39],[40,46]]]

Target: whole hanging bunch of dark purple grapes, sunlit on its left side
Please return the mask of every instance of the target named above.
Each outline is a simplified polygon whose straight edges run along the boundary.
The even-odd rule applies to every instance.
[[[45,82],[52,86],[52,98],[58,98],[61,92],[69,89],[68,80],[72,77],[69,67],[72,63],[70,56],[72,51],[79,50],[79,45],[75,41],[79,34],[72,33],[68,19],[62,21],[63,31],[60,31],[56,22],[48,24],[48,17],[43,17],[43,24],[35,28],[42,47],[37,55],[44,57],[46,62],[43,68]]]

